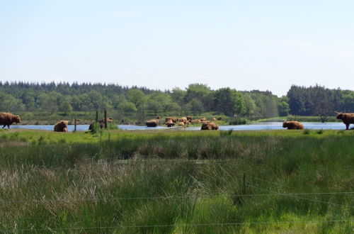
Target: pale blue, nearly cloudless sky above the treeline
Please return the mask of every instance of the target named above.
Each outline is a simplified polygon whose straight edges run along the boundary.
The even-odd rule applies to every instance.
[[[0,0],[0,80],[354,90],[354,1]]]

